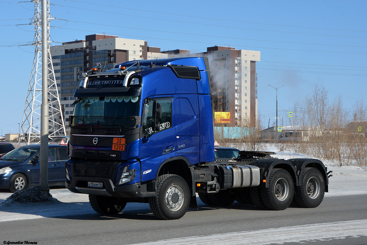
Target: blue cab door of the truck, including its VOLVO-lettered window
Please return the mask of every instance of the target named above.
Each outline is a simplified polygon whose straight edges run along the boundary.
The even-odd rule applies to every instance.
[[[156,178],[156,173],[164,161],[176,156],[176,127],[172,117],[172,97],[153,98],[161,105],[159,130],[152,131],[153,101],[143,105],[142,133],[139,140],[139,159],[141,161],[141,181]]]

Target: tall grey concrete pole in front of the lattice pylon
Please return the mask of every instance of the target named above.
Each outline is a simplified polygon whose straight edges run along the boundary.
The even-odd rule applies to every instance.
[[[41,105],[41,153],[40,185],[44,195],[50,195],[48,187],[48,17],[47,0],[41,0],[42,13],[42,105]]]

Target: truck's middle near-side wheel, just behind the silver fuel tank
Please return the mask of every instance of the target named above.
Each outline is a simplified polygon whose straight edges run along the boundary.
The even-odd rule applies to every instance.
[[[290,173],[285,169],[273,169],[269,174],[269,188],[261,190],[261,198],[266,208],[283,210],[291,204],[294,184]]]

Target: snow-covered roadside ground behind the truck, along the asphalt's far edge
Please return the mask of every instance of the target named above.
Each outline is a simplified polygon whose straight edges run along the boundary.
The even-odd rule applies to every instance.
[[[304,154],[297,154],[288,151],[277,151],[277,148],[268,147],[266,151],[274,151],[277,158],[309,158]],[[332,161],[324,161],[328,170],[333,171],[333,177],[329,179],[329,192],[326,197],[340,195],[361,195],[367,194],[367,167],[343,166],[337,167]],[[12,193],[0,189],[0,203],[4,202]],[[88,195],[72,193],[65,188],[52,188],[50,194],[59,202],[40,203],[10,203],[7,206],[0,205],[0,222],[40,219],[43,217],[65,217],[75,215],[98,215],[90,206]],[[202,205],[198,198],[199,206]],[[147,203],[128,203],[124,210],[134,210],[135,212],[149,212]]]

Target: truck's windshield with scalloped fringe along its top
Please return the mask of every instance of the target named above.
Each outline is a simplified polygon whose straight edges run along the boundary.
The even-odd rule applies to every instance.
[[[138,96],[83,97],[75,105],[74,126],[132,128],[139,115]]]

